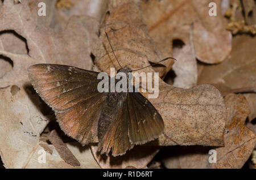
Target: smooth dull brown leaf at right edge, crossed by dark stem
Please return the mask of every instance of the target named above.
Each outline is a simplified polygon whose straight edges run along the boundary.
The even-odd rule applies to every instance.
[[[235,36],[232,53],[218,65],[201,65],[198,83],[210,83],[231,89],[256,87],[256,37]],[[251,113],[250,121],[256,117],[256,94],[245,94]]]

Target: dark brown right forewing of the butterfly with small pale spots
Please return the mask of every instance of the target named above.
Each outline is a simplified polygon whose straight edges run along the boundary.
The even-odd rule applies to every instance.
[[[139,92],[127,95],[129,138],[133,144],[144,144],[158,138],[164,130],[164,122],[154,106]]]

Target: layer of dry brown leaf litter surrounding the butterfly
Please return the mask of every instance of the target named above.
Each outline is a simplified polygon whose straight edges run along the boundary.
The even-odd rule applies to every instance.
[[[245,126],[250,112],[248,104],[255,101],[247,97],[247,102],[242,95],[227,95],[224,101],[213,85],[202,84],[216,83],[217,78],[202,80],[207,77],[203,75],[208,71],[207,64],[197,62],[196,67],[196,59],[210,64],[229,64],[232,36],[225,29],[224,16],[210,19],[204,14],[204,11],[208,12],[208,4],[201,1],[188,4],[185,1],[108,1],[97,4],[72,0],[67,1],[70,6],[61,8],[57,6],[61,1],[45,0],[51,16],[42,18],[36,15],[38,2],[15,4],[3,1],[0,4],[0,17],[5,17],[0,19],[0,112],[5,112],[0,116],[0,155],[5,168],[163,167],[152,159],[164,152],[164,146],[176,149],[176,154],[179,148],[190,153],[172,160],[164,157],[161,163],[166,168],[242,168],[255,145],[255,133]],[[216,2],[220,7],[220,1]],[[83,11],[83,7],[89,8],[88,11]],[[197,14],[192,7],[196,8]],[[65,141],[63,134],[56,138],[54,130],[52,135],[44,134],[49,122],[54,121],[52,112],[36,95],[27,78],[27,67],[35,63],[59,63],[108,73],[110,67],[118,69],[105,32],[108,32],[122,66],[136,69],[169,56],[178,61],[181,59],[140,71],[159,72],[160,78],[164,78],[174,65],[177,74],[174,86],[159,79],[159,97],[149,99],[164,119],[164,134],[119,157],[98,155],[96,145],[82,147],[79,143]],[[203,38],[201,33],[209,36]],[[174,40],[181,40],[184,46],[175,49]],[[253,43],[250,37],[247,41]],[[236,44],[233,43],[233,49],[237,47],[239,51],[239,43]],[[225,72],[225,68],[219,74],[221,72]],[[250,72],[246,78],[255,71]],[[229,84],[230,88],[236,87]],[[241,86],[245,87],[245,84]],[[143,95],[147,97],[148,92]],[[252,121],[253,115],[249,117]],[[52,139],[52,144],[47,139]],[[53,139],[58,139],[59,143]],[[61,152],[56,144],[65,147],[65,152]],[[217,164],[210,165],[206,161],[208,153],[194,154],[195,145],[215,147],[219,154]],[[161,148],[163,151],[159,151]],[[45,164],[38,162],[40,149],[46,151]],[[64,157],[67,152],[68,156]],[[67,163],[68,158],[75,163]],[[187,160],[193,163],[184,165]],[[158,165],[152,165],[151,161]]]

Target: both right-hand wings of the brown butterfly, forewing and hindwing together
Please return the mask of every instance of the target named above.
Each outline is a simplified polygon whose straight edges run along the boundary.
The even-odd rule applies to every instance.
[[[150,142],[163,132],[162,117],[141,93],[126,93],[117,104],[121,108],[112,109],[110,114],[114,114],[115,119],[98,145],[101,153],[112,150],[113,156],[122,155],[135,144]]]

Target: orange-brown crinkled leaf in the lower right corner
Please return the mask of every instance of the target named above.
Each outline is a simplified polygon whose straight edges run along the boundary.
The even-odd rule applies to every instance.
[[[228,95],[225,102],[228,110],[225,147],[217,149],[217,164],[212,168],[242,168],[256,143],[255,133],[245,126],[250,108],[243,95]]]

